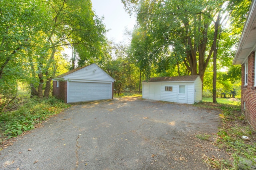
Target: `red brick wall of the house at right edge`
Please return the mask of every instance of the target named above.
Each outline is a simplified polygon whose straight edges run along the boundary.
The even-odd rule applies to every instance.
[[[242,65],[241,109],[248,122],[256,130],[256,87],[254,87],[254,69],[255,52],[253,51],[248,57],[248,85],[244,85],[244,64]]]

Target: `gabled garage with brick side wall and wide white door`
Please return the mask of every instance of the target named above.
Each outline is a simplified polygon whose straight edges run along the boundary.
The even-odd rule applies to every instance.
[[[98,65],[91,64],[53,79],[52,94],[65,103],[113,99],[114,81]]]

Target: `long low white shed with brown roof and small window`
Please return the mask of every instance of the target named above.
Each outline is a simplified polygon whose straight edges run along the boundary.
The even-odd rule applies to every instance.
[[[193,104],[202,101],[199,75],[152,77],[142,82],[142,98]]]

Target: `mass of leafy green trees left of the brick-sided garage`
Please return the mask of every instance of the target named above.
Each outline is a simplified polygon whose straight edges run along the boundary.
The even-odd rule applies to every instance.
[[[32,96],[48,97],[64,47],[73,45],[80,60],[102,53],[106,30],[90,0],[2,0],[0,7],[1,87],[23,79]]]

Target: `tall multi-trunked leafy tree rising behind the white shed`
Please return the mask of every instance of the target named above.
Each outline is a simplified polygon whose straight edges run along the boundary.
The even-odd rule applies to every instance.
[[[132,12],[137,15],[140,30],[150,38],[149,46],[144,51],[154,50],[152,59],[159,53],[173,49],[184,52],[183,62],[191,75],[200,75],[203,81],[204,72],[212,57],[214,36],[213,22],[218,20],[224,1],[178,1],[178,0],[140,0],[123,1],[127,10],[131,4],[137,5]],[[217,17],[217,18],[216,18]],[[146,42],[147,43],[147,42]],[[146,56],[146,55],[144,55]],[[150,65],[149,65],[150,66]]]

